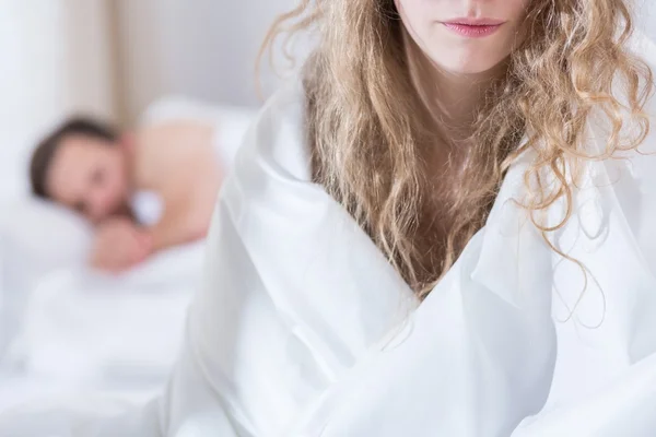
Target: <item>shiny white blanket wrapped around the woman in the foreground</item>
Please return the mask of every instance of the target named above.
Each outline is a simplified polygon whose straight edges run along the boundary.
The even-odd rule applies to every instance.
[[[281,93],[237,156],[166,394],[133,411],[15,411],[0,435],[656,435],[656,156],[587,166],[554,237],[589,270],[584,294],[581,271],[513,202],[527,153],[413,310],[367,236],[311,182],[303,108],[297,87]]]

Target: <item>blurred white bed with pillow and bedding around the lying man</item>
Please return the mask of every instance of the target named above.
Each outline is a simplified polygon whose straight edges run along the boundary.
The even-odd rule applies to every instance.
[[[173,96],[151,105],[141,122],[216,120],[233,153],[253,115]],[[145,399],[162,390],[204,243],[105,275],[85,265],[93,233],[80,217],[26,197],[0,205],[0,411],[80,391]]]

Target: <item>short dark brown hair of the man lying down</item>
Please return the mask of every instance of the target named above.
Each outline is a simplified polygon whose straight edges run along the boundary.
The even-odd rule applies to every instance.
[[[32,192],[35,196],[44,199],[50,198],[47,187],[48,172],[62,140],[69,135],[85,135],[108,142],[116,141],[118,137],[112,127],[90,118],[75,117],[63,122],[44,138],[32,154],[30,180]]]

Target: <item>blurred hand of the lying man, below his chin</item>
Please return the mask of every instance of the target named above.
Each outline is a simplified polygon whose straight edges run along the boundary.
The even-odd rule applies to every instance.
[[[152,252],[150,235],[129,218],[110,218],[99,225],[91,253],[91,264],[119,273],[143,261]]]

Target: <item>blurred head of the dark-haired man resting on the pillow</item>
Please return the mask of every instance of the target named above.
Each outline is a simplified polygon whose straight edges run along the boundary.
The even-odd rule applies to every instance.
[[[122,211],[129,193],[118,134],[85,118],[68,120],[38,144],[30,177],[36,196],[70,206],[92,222]]]

